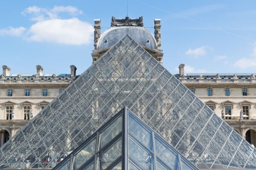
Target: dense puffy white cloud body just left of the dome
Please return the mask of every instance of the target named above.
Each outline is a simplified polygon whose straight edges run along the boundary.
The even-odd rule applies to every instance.
[[[32,25],[27,40],[60,44],[88,44],[93,39],[93,26],[77,18],[39,21]]]

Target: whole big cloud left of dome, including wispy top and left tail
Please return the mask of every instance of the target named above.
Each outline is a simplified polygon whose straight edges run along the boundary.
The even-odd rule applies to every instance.
[[[83,13],[73,6],[54,6],[53,8],[31,6],[26,8],[22,14],[30,15],[31,19],[36,21],[35,24],[28,29],[24,27],[0,29],[0,36],[23,36],[26,40],[37,42],[89,44],[93,40],[93,26],[76,17],[61,19],[59,15],[64,12],[72,16]]]

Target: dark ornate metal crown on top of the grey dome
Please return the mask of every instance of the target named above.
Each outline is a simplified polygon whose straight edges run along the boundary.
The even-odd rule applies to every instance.
[[[111,27],[119,27],[119,26],[139,26],[143,27],[143,17],[139,17],[136,19],[131,19],[128,16],[125,19],[117,19],[112,17]]]

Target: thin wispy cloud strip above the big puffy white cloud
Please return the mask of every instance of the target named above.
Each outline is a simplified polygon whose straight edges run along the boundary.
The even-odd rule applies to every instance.
[[[25,16],[26,14],[31,14],[31,20],[42,21],[60,18],[59,14],[64,12],[72,16],[83,13],[81,10],[78,10],[73,6],[54,6],[51,9],[39,8],[38,6],[30,6],[29,8],[26,8],[21,14]]]

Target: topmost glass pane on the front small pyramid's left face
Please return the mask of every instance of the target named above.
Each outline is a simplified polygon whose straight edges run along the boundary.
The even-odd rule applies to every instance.
[[[117,134],[122,132],[122,116],[119,116],[111,125],[105,128],[101,133],[101,147],[105,146],[111,139],[113,139]]]

